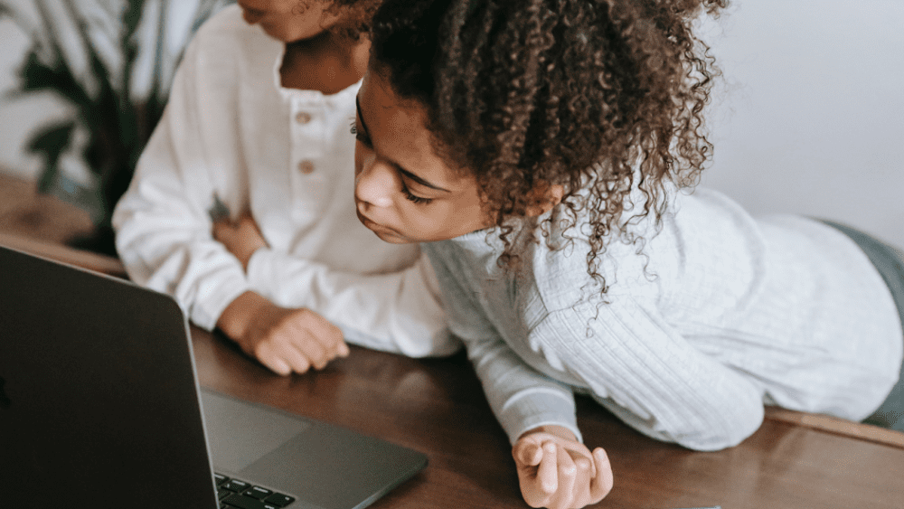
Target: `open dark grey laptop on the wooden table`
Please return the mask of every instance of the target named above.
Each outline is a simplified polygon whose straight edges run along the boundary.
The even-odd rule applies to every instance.
[[[360,509],[426,465],[202,390],[174,299],[0,246],[0,507]]]

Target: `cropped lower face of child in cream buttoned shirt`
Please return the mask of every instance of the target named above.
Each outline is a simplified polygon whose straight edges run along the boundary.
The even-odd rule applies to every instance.
[[[239,0],[248,24],[259,24],[270,37],[281,42],[310,39],[335,24],[338,17],[326,14],[329,2],[322,0]]]

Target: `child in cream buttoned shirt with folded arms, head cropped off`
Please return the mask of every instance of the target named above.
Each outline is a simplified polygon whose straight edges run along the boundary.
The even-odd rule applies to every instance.
[[[130,278],[280,374],[322,368],[344,340],[458,347],[418,247],[375,239],[350,207],[358,34],[377,3],[240,0],[215,15],[114,215]],[[218,210],[233,215],[212,224]]]

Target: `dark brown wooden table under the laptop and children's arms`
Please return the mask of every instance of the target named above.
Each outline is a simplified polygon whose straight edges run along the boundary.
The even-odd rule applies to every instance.
[[[427,469],[374,509],[527,507],[508,439],[463,354],[414,360],[353,347],[321,372],[284,378],[219,337],[193,329],[193,343],[206,387],[427,454]],[[585,440],[607,449],[616,476],[595,507],[904,507],[899,434],[773,410],[738,447],[703,453],[645,438],[589,399],[579,397],[578,411]]]

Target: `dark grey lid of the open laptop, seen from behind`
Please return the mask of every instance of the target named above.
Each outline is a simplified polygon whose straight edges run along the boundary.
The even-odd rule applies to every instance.
[[[0,247],[0,507],[217,507],[192,355],[173,299]]]

